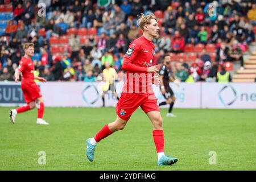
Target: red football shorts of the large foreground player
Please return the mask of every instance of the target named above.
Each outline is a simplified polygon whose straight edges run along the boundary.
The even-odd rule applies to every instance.
[[[131,94],[122,93],[115,110],[117,115],[126,121],[131,117],[131,114],[141,106],[144,113],[149,111],[160,111],[158,99],[155,94]]]

